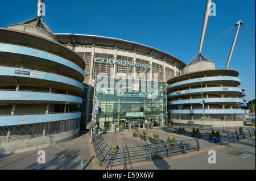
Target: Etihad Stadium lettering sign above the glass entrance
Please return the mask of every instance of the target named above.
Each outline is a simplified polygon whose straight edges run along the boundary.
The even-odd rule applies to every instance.
[[[129,61],[124,61],[124,60],[112,60],[108,58],[94,58],[94,62],[97,63],[105,63],[105,64],[118,64],[118,65],[123,65],[123,66],[135,66],[136,68],[142,68],[142,69],[152,69],[151,65],[147,64],[140,64],[136,62],[129,62]]]

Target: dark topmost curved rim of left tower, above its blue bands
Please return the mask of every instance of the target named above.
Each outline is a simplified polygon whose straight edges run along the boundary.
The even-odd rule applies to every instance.
[[[0,28],[0,42],[35,47],[47,52],[52,52],[67,60],[72,60],[72,62],[79,65],[82,69],[85,69],[84,60],[77,53],[54,40],[44,38],[40,35],[12,30],[10,28]]]

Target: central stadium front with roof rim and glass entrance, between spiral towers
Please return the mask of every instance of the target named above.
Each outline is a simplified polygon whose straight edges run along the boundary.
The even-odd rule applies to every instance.
[[[118,130],[118,125],[123,123],[124,129],[143,128],[149,121],[155,126],[167,124],[166,81],[181,73],[186,65],[183,61],[159,49],[148,47],[131,41],[111,37],[94,35],[77,35],[69,33],[56,33],[62,44],[71,48],[85,61],[84,92],[82,93],[81,129],[86,129],[87,123],[92,120],[93,95],[95,78],[101,74],[108,77],[108,88],[97,91],[95,98],[99,100],[99,113],[96,123],[100,131]],[[114,90],[110,82],[117,83],[117,74],[131,74],[125,78],[125,91]],[[156,73],[156,74],[155,74]],[[137,77],[145,74],[145,77]],[[155,75],[155,76],[154,76]],[[158,93],[155,98],[147,92],[141,92],[144,80],[154,87]],[[106,79],[98,77],[98,81]],[[132,87],[131,94],[129,87]],[[139,91],[136,91],[136,87]]]

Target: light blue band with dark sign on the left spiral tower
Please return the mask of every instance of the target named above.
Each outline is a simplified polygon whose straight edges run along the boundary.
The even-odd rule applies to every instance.
[[[82,83],[76,81],[75,79],[64,77],[62,75],[47,73],[44,71],[0,66],[0,75],[44,79],[47,81],[66,83],[68,85],[79,87],[81,90],[84,89]]]

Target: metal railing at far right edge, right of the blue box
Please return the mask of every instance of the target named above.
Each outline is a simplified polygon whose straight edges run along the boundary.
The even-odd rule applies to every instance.
[[[253,127],[234,132],[224,132],[220,134],[220,144],[229,144],[234,141],[245,140],[246,138],[253,136],[255,136],[255,129]]]

